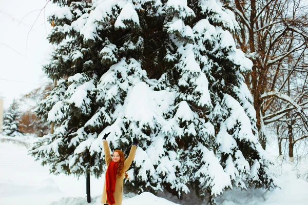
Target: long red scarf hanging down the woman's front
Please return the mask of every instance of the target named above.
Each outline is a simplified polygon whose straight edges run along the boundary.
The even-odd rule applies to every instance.
[[[107,201],[110,205],[114,204],[113,193],[115,191],[115,180],[117,178],[118,162],[111,161],[106,171],[106,192]]]

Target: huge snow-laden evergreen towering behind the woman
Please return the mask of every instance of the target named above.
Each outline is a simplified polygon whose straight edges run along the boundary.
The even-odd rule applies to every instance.
[[[37,113],[56,129],[30,152],[51,172],[105,170],[101,138],[128,154],[130,191],[195,190],[210,202],[233,186],[273,188],[236,49],[238,25],[216,0],[56,1],[55,49],[44,67],[58,85]]]

